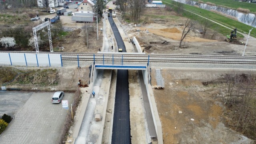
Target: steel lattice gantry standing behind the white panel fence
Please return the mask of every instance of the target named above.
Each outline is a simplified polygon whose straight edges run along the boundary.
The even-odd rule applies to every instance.
[[[51,30],[50,30],[50,22],[46,21],[34,28],[33,29],[33,35],[34,35],[34,42],[35,42],[35,46],[36,46],[36,54],[39,54],[39,49],[38,49],[38,42],[37,42],[37,36],[36,36],[36,32],[38,30],[41,30],[42,28],[46,27],[48,29],[48,37],[49,37],[49,43],[50,43],[50,52],[53,52],[52,50],[52,37],[51,37]]]

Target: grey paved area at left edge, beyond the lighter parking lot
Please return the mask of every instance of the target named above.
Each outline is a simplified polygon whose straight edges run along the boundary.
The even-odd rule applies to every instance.
[[[0,92],[0,117],[7,114],[15,117],[33,92]]]

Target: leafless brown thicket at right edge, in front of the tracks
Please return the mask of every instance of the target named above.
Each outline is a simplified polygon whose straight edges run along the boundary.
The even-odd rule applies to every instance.
[[[220,92],[228,111],[228,125],[243,134],[255,135],[256,76],[253,74],[226,74]]]

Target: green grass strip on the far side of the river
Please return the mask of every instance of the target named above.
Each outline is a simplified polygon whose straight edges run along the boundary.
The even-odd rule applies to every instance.
[[[228,8],[232,8],[234,10],[238,8],[244,8],[250,10],[250,12],[256,13],[256,4],[248,3],[248,2],[238,2],[234,0],[194,0],[200,3],[204,2],[212,2],[218,6],[224,6]]]

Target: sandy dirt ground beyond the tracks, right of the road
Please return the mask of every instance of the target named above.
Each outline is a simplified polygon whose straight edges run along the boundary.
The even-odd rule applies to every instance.
[[[141,20],[142,23],[137,27],[126,22],[123,22],[123,24],[128,36],[130,38],[135,36],[146,53],[241,56],[244,50],[244,45],[226,42],[225,36],[216,34],[214,30],[208,30],[203,38],[202,34],[197,32],[197,30],[200,30],[199,25],[196,25],[188,33],[184,43],[182,43],[182,48],[178,48],[186,18],[179,17],[174,12],[168,12],[165,9],[143,9]],[[239,41],[245,43],[246,38],[245,35],[245,38],[239,39]],[[246,56],[255,56],[255,41],[255,38],[248,40]]]

